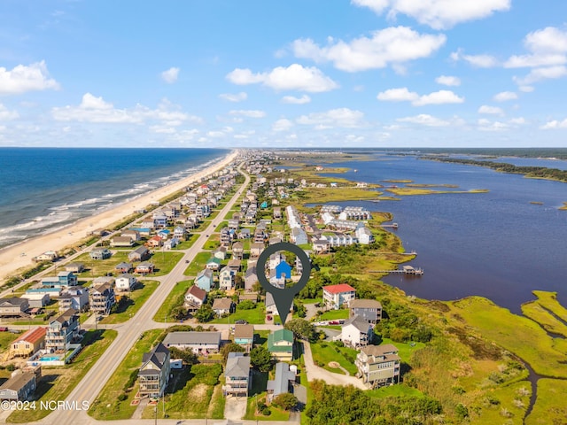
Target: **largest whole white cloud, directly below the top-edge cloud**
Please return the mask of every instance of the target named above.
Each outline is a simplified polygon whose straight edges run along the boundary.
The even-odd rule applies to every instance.
[[[446,42],[445,35],[421,35],[409,27],[388,27],[361,36],[351,42],[328,40],[320,47],[313,40],[296,40],[291,47],[297,58],[332,62],[350,73],[400,65],[418,58],[428,58]]]

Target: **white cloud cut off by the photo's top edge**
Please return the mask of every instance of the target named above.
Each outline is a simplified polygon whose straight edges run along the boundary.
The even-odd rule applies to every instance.
[[[351,0],[357,6],[369,7],[377,14],[388,10],[388,17],[408,15],[435,29],[453,27],[461,22],[486,18],[493,12],[505,12],[511,0]]]

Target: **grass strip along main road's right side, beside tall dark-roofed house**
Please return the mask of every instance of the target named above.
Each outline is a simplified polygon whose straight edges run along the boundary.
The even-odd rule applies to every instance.
[[[131,374],[136,373],[142,364],[144,352],[149,352],[156,343],[162,329],[152,329],[144,332],[144,336],[134,344],[126,357],[122,360],[114,375],[105,384],[95,401],[89,408],[89,415],[99,421],[128,419],[136,411],[136,406],[130,406],[136,396],[137,383],[133,390],[126,394],[128,398],[120,401],[118,397],[125,393],[124,386],[128,383]]]

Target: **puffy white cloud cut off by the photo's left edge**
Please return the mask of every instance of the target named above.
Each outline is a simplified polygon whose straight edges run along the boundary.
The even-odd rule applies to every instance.
[[[0,66],[0,96],[45,89],[59,89],[59,84],[49,77],[44,61],[14,66],[11,71]]]

